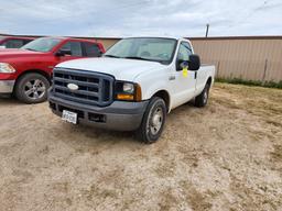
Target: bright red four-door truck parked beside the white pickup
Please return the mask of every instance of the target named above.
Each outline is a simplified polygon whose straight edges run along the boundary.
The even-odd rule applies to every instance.
[[[102,53],[102,44],[96,41],[69,37],[42,37],[20,49],[0,51],[0,95],[13,93],[25,103],[43,102],[54,66]]]

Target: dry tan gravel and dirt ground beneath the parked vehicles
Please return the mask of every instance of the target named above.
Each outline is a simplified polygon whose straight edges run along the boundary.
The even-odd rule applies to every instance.
[[[217,84],[160,141],[0,100],[0,210],[282,210],[282,90]]]

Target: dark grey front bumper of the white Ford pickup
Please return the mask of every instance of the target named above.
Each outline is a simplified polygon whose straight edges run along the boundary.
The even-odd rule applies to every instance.
[[[48,92],[50,108],[62,116],[63,110],[77,113],[78,123],[115,131],[134,131],[142,121],[149,101],[113,101],[108,107],[82,104],[55,97]]]

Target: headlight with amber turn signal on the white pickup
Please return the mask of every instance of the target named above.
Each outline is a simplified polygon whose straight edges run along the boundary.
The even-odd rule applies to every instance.
[[[117,100],[141,101],[141,87],[138,84],[128,81],[117,81],[115,86],[115,96]]]

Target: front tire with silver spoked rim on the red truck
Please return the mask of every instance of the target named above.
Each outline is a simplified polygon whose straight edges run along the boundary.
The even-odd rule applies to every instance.
[[[20,77],[15,85],[15,97],[26,103],[40,103],[47,99],[50,81],[41,74],[32,73]]]

